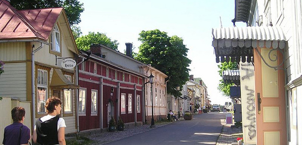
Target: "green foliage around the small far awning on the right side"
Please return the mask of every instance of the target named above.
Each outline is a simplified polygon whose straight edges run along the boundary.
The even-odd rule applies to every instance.
[[[238,69],[238,64],[237,62],[222,62],[221,64],[218,65],[218,70],[219,76],[222,78],[222,72],[224,70],[236,70]],[[222,93],[223,96],[230,97],[230,88],[234,86],[234,83],[224,83],[223,80],[219,80],[219,84],[217,89]]]

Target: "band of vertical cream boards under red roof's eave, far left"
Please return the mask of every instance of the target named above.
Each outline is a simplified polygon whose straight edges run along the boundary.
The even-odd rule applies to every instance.
[[[25,42],[0,43],[0,60],[26,60]]]

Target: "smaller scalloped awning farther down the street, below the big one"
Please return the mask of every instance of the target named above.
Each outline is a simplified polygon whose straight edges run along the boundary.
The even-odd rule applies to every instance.
[[[240,71],[239,70],[224,70],[222,72],[222,79],[224,83],[234,83],[240,85]]]

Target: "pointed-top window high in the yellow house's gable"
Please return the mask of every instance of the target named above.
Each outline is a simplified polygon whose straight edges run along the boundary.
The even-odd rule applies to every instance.
[[[60,31],[57,25],[54,26],[52,33],[50,34],[49,40],[50,40],[50,50],[60,53],[61,52]]]

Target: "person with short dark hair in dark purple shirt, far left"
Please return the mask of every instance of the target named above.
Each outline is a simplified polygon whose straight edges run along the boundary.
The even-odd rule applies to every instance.
[[[8,145],[23,145],[30,143],[30,129],[23,124],[25,118],[25,109],[23,107],[15,107],[11,112],[13,124],[5,127],[2,143]]]

